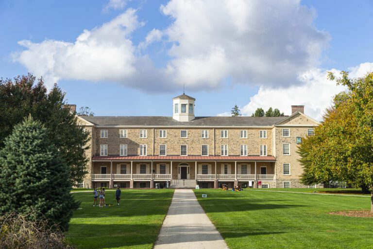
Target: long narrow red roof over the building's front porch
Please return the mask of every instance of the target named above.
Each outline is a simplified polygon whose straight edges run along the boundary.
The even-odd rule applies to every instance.
[[[212,161],[227,161],[227,160],[237,160],[237,161],[274,161],[276,160],[275,157],[259,157],[259,156],[228,156],[228,157],[221,157],[221,156],[95,156],[92,157],[92,160],[182,160],[182,161],[195,161],[195,160],[212,160]]]

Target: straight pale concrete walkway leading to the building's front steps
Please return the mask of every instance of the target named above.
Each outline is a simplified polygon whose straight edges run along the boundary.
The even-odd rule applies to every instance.
[[[190,189],[176,189],[154,249],[228,249]]]

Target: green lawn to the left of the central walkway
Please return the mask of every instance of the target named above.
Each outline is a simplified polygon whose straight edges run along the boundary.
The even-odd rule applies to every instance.
[[[106,204],[93,207],[93,192],[74,193],[82,201],[66,233],[78,249],[151,249],[169,209],[173,190],[123,190],[117,206],[115,191],[106,193]]]

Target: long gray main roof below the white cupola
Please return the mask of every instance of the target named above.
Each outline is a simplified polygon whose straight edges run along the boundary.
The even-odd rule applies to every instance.
[[[287,117],[287,116],[286,116]],[[82,116],[94,125],[138,126],[271,126],[286,117],[195,117],[189,122],[179,122],[172,117],[141,116]]]

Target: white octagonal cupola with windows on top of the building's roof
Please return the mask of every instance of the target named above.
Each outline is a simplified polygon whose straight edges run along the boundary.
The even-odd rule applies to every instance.
[[[194,101],[196,99],[192,98],[185,93],[174,97],[173,102],[173,115],[174,120],[180,122],[188,122],[194,119]]]

